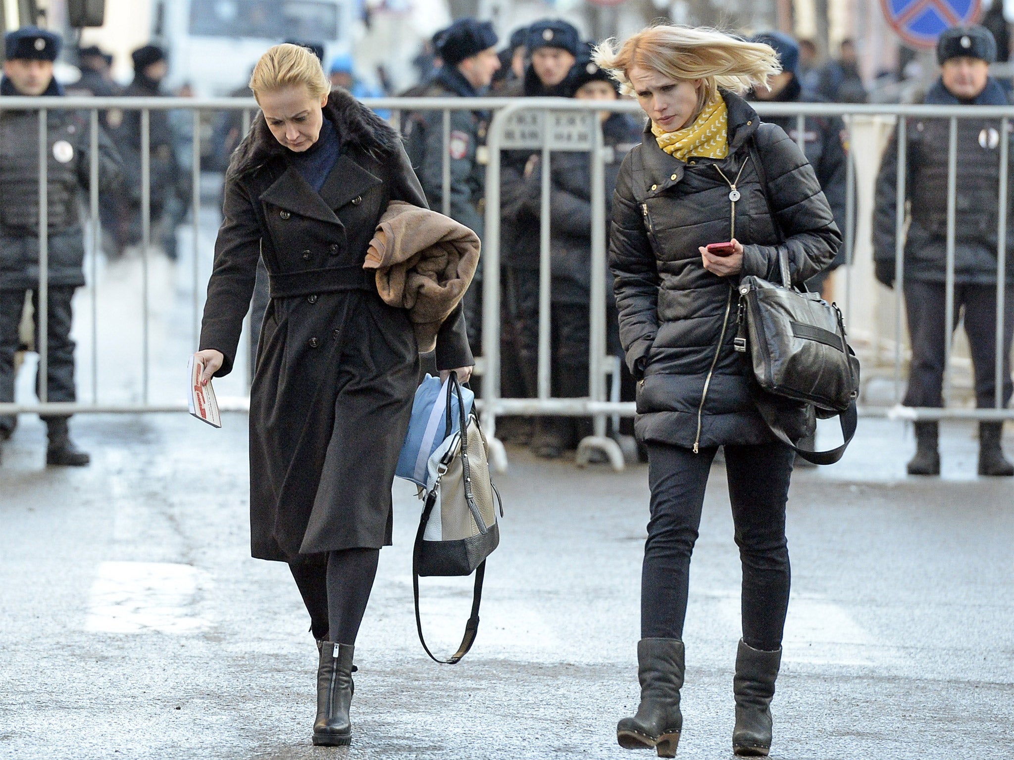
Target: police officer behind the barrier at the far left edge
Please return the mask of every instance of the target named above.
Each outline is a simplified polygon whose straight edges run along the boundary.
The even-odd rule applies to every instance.
[[[0,95],[63,95],[53,78],[60,37],[26,26],[6,35],[4,77]],[[90,158],[87,122],[54,108],[48,113],[47,138],[49,295],[48,367],[45,378],[50,401],[75,400],[74,341],[70,337],[71,299],[84,285],[81,268],[84,239],[78,195],[87,189]],[[100,192],[118,188],[120,159],[104,134],[99,134]],[[31,291],[39,334],[39,115],[6,110],[0,113],[0,401],[14,400],[14,352],[25,294]],[[37,379],[37,388],[43,378]],[[44,417],[49,427],[47,464],[81,466],[88,455],[70,440],[66,416]],[[0,440],[9,438],[13,416],[0,416]]]

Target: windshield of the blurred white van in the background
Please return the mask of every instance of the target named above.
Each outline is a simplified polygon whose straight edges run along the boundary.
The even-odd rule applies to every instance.
[[[191,34],[328,42],[338,37],[338,6],[322,0],[195,0]]]

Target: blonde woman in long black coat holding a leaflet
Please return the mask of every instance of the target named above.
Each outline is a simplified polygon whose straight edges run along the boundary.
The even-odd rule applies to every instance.
[[[271,302],[250,389],[252,554],[289,563],[317,639],[313,744],[352,738],[353,651],[381,546],[420,359],[407,312],[362,269],[389,201],[426,207],[397,134],[316,57],[279,45],[250,88],[261,105],[225,179],[198,358],[228,374],[259,258]],[[437,338],[437,367],[474,364],[460,308]]]

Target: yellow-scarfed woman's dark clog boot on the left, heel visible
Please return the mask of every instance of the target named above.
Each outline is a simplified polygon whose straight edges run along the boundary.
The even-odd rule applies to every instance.
[[[628,749],[654,747],[659,757],[675,757],[683,715],[683,642],[678,638],[642,638],[637,644],[641,704],[634,717],[617,724],[617,741]]]

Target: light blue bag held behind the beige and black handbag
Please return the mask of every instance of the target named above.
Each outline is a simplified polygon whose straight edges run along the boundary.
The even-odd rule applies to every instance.
[[[454,435],[461,427],[456,393],[450,393],[448,382],[440,382],[439,377],[427,375],[416,389],[416,400],[412,404],[412,422],[409,434],[402,445],[394,474],[426,487],[427,464],[430,456],[448,436]],[[451,429],[447,430],[447,396],[451,396]],[[476,394],[461,387],[464,400],[464,416],[472,413]]]

